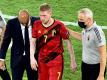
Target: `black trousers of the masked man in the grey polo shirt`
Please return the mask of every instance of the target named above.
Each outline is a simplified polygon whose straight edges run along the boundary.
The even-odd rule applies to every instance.
[[[100,63],[86,64],[82,62],[81,72],[82,72],[82,80],[97,80],[97,77],[100,72]],[[106,74],[106,70],[105,70],[105,74]]]

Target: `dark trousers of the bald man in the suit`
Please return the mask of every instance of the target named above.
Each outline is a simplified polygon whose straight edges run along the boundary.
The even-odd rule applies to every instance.
[[[23,80],[23,74],[26,70],[27,80],[38,80],[38,72],[31,69],[30,61],[26,56],[23,56],[20,64],[12,68],[12,80]]]

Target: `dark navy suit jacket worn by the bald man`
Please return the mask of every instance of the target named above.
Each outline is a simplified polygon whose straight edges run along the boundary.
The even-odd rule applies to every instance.
[[[33,25],[35,20],[38,20],[38,17],[31,17],[31,24]],[[12,40],[11,48],[11,68],[20,64],[24,53],[24,40],[21,31],[21,25],[18,18],[11,19],[7,22],[6,31],[3,38],[3,43],[0,50],[0,58],[5,59],[8,46]],[[26,54],[30,60],[30,46],[28,53]]]

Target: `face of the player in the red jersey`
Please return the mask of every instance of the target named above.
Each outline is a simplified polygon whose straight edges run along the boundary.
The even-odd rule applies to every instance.
[[[40,11],[39,15],[42,23],[47,24],[51,18],[51,11]]]

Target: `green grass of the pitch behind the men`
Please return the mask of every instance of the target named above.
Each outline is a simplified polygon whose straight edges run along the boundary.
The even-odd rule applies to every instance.
[[[39,5],[47,2],[52,5],[53,8],[53,17],[63,21],[77,21],[77,11],[81,8],[87,7],[94,12],[94,19],[99,25],[107,26],[107,0],[0,0],[0,9],[4,14],[8,15],[17,15],[20,9],[28,9],[30,14],[33,16],[38,15]],[[71,27],[73,30],[81,31],[78,27]],[[107,30],[104,30],[107,37]],[[64,74],[63,80],[80,80],[81,78],[81,54],[82,46],[81,42],[71,37],[73,42],[73,47],[75,50],[75,56],[77,61],[77,71],[72,73],[70,70],[70,59],[69,54],[64,44],[65,53],[64,53]],[[7,53],[6,64],[8,71],[10,70],[10,51]],[[107,76],[107,74],[106,74]],[[26,73],[24,74],[24,79],[26,78]],[[107,80],[107,78],[106,78]]]

